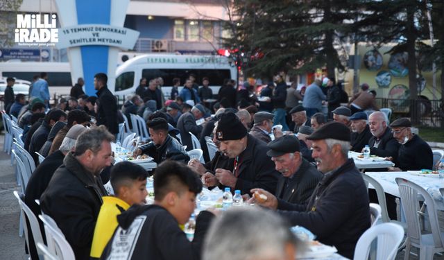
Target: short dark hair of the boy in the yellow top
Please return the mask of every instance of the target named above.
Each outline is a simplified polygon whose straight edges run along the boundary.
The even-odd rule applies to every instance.
[[[145,169],[132,162],[120,162],[112,167],[110,173],[110,182],[114,195],[119,196],[119,189],[122,186],[129,187],[137,180],[146,180],[148,173]]]

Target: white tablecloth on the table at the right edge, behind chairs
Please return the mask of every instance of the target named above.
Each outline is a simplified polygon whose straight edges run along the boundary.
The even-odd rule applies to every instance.
[[[444,179],[440,179],[436,176],[418,176],[407,171],[367,172],[366,174],[377,180],[386,193],[397,197],[400,196],[400,191],[398,189],[398,184],[395,182],[395,178],[401,177],[411,182],[415,182],[432,195],[432,198],[434,198],[436,202],[436,209],[444,210],[444,198],[439,192],[439,188],[444,187]],[[373,188],[371,185],[369,187]]]

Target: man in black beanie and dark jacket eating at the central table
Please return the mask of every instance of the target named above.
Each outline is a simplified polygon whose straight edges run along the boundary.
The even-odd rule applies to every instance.
[[[216,168],[214,175],[205,173],[203,180],[207,187],[230,187],[239,189],[241,194],[261,188],[275,193],[280,173],[266,155],[269,148],[263,141],[248,135],[247,129],[231,112],[225,112],[216,128],[216,139],[221,141],[221,153],[234,159],[232,171]]]

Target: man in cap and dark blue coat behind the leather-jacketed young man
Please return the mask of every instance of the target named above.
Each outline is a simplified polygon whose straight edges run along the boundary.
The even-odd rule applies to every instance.
[[[187,146],[187,151],[193,150],[193,142],[189,132],[193,133],[197,138],[200,137],[203,125],[197,125],[196,120],[203,118],[204,114],[205,108],[203,105],[197,104],[191,108],[191,111],[179,117],[177,128],[180,130],[182,145]]]

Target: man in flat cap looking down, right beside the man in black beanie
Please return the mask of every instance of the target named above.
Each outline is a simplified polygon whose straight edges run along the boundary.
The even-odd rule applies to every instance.
[[[270,150],[266,154],[275,162],[276,171],[282,173],[275,193],[278,209],[287,209],[289,203],[308,200],[323,176],[302,157],[298,138],[284,135],[267,146]]]

